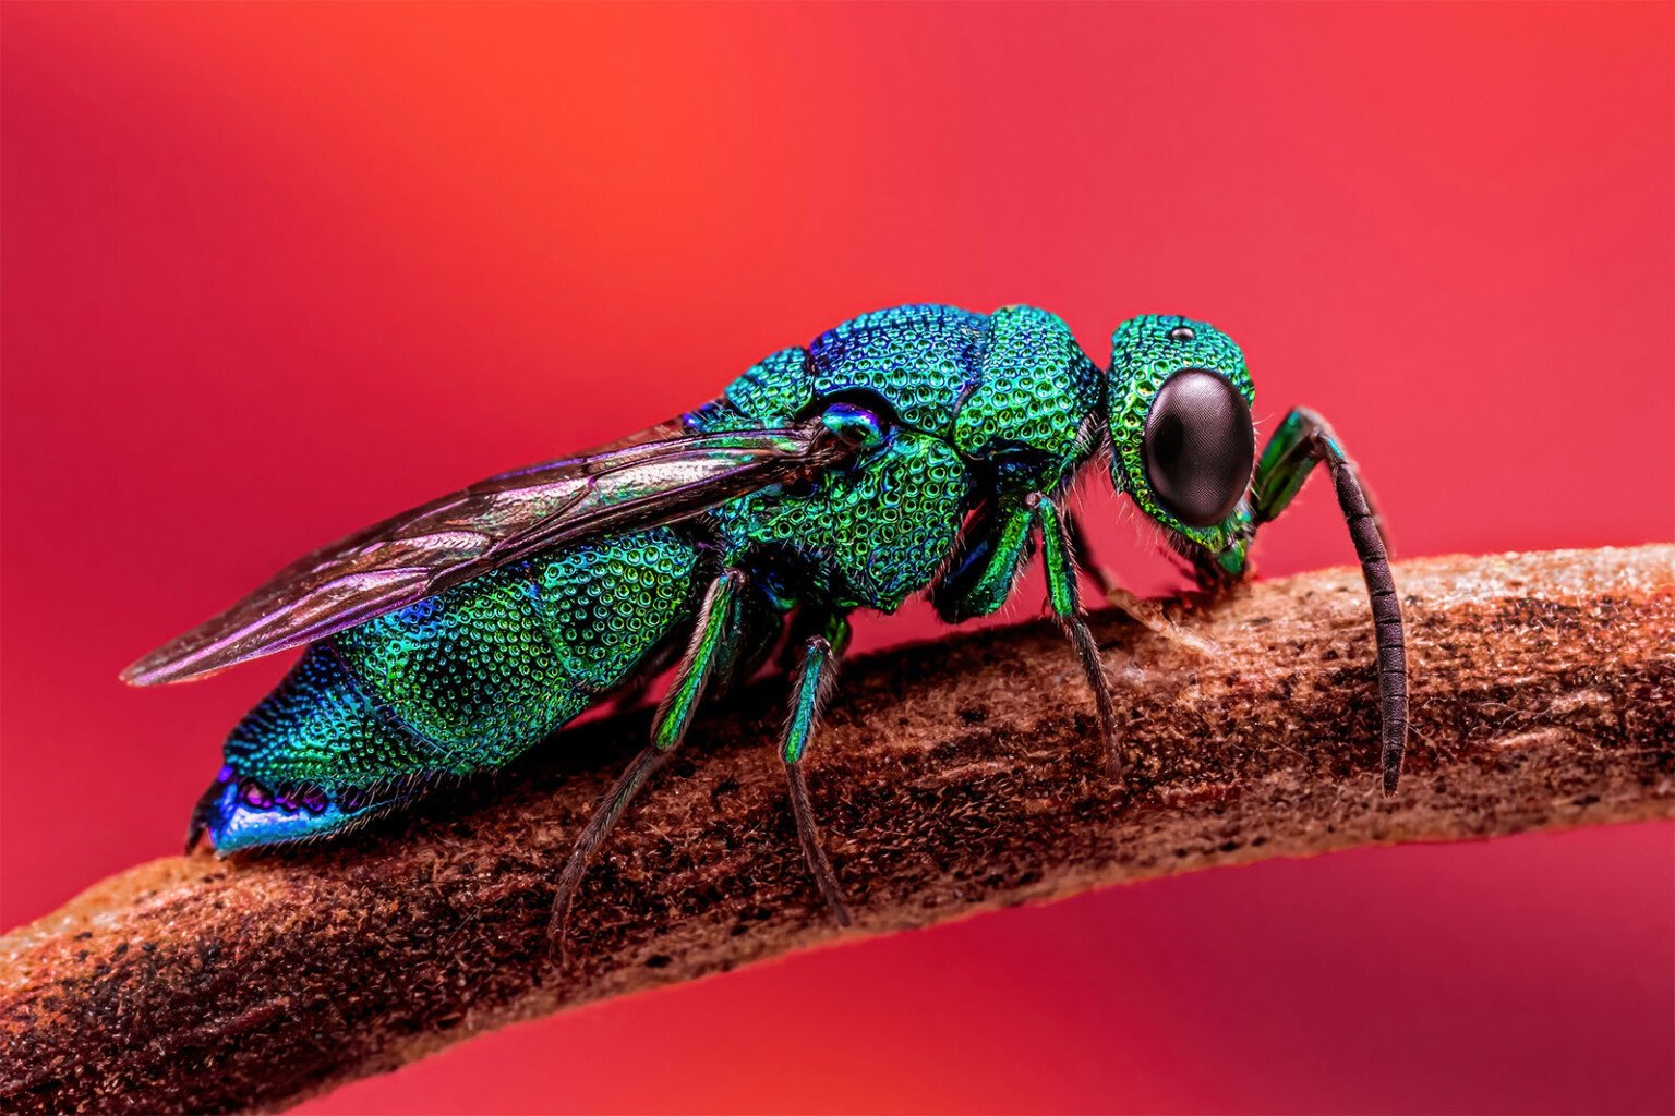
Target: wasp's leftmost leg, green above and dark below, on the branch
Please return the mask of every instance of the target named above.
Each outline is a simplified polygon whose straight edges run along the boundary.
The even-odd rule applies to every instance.
[[[570,905],[581,887],[581,877],[588,870],[588,860],[598,852],[610,835],[611,827],[640,793],[647,780],[668,761],[668,756],[680,746],[692,724],[692,714],[704,698],[719,663],[730,653],[730,641],[735,637],[739,621],[739,596],[744,589],[744,574],[727,571],[710,584],[698,609],[697,624],[692,629],[692,642],[680,659],[675,684],[670,686],[663,706],[657,713],[652,726],[652,743],[633,758],[616,783],[606,791],[595,808],[588,825],[581,830],[576,843],[570,850],[564,870],[558,877],[558,890],[553,895],[553,919],[548,922],[548,942],[553,952],[563,955],[564,924],[570,920]]]

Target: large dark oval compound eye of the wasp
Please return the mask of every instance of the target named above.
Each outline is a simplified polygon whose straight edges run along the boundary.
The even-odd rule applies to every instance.
[[[1238,507],[1256,460],[1251,408],[1231,383],[1183,368],[1146,413],[1146,479],[1188,527],[1219,524]]]

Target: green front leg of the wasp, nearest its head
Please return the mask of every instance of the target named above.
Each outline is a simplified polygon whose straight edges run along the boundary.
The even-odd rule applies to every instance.
[[[1002,497],[978,512],[961,532],[960,550],[931,586],[931,604],[948,622],[988,616],[1012,594],[1023,559],[1040,537],[1047,566],[1047,601],[1069,636],[1094,691],[1094,708],[1106,740],[1107,761],[1116,778],[1122,775],[1117,738],[1116,696],[1099,658],[1099,644],[1087,627],[1087,612],[1077,586],[1075,547],[1059,505],[1042,492]]]

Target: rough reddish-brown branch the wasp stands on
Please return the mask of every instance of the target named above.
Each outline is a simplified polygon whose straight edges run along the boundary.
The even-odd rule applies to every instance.
[[[1397,584],[1414,740],[1394,798],[1377,793],[1355,571],[1171,607],[1211,656],[1097,617],[1122,793],[1045,622],[851,664],[809,758],[849,934],[1263,857],[1675,811],[1675,547],[1425,559]],[[280,1109],[516,1019],[832,940],[774,761],[782,703],[769,681],[700,719],[588,877],[563,972],[551,888],[643,714],[340,843],[95,885],[0,939],[0,1108]]]

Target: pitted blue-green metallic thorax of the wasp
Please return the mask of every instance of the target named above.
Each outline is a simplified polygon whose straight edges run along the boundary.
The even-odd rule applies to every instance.
[[[801,569],[797,596],[894,611],[946,559],[985,495],[1057,492],[1097,445],[1104,375],[1055,315],[898,306],[774,353],[687,417],[767,428],[846,402],[888,437],[811,490],[765,490],[714,514],[735,555]]]

